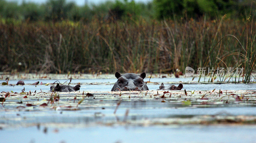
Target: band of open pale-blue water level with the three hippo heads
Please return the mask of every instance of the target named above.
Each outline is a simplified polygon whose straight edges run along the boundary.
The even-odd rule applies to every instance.
[[[160,84],[163,82],[165,86],[169,87],[172,85],[169,82],[173,82],[174,85],[178,86],[181,82],[189,83],[191,82],[192,78],[152,78],[150,79],[151,82],[157,82],[156,83],[148,83],[149,90],[156,90],[159,89]],[[19,80],[11,80],[9,81],[9,84],[16,84]],[[46,83],[53,83],[56,80],[23,80],[25,84],[32,84],[37,81]],[[60,83],[64,83],[67,80],[59,80]],[[148,81],[148,79],[145,79],[145,81]],[[5,82],[4,80],[0,80],[1,82]],[[68,80],[69,82],[69,80]],[[68,83],[66,82],[66,83]],[[110,91],[116,82],[116,79],[72,79],[71,85],[76,85],[77,83],[81,84],[80,91]],[[228,84],[183,84],[183,89],[186,90],[213,90],[213,89],[221,89],[221,90],[255,90],[256,84],[235,84],[235,83],[228,83]],[[192,83],[192,82],[191,82]],[[13,92],[20,92],[25,87],[25,91],[40,91],[40,89],[43,92],[50,90],[50,85],[37,85],[36,87],[34,85],[24,85],[24,86],[2,86],[0,85],[0,91],[10,91]]]

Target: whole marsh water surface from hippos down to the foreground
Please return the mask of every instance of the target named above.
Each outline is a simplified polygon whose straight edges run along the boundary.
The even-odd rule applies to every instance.
[[[60,83],[68,79],[58,80]],[[19,80],[10,80],[9,84],[16,84]],[[1,85],[0,91],[21,92],[48,92],[55,80],[36,79],[23,80],[25,85]],[[43,85],[31,85],[34,82]],[[145,79],[148,81],[148,79]],[[0,80],[5,82],[4,80]],[[69,82],[69,80],[68,80]],[[156,90],[163,82],[166,86],[183,83],[180,92],[172,92],[177,98],[165,99],[148,98],[145,92],[122,92],[127,95],[123,98],[116,114],[113,114],[116,104],[120,101],[119,91],[109,92],[116,79],[72,79],[71,85],[81,84],[80,91],[75,93],[81,96],[82,92],[93,93],[93,97],[84,98],[83,105],[77,110],[67,110],[58,104],[68,102],[74,97],[73,93],[61,93],[57,108],[26,107],[18,110],[14,103],[35,103],[41,99],[37,97],[12,98],[0,112],[0,134],[5,137],[1,142],[255,142],[256,126],[211,124],[215,117],[237,118],[240,116],[255,117],[256,102],[251,95],[248,101],[237,102],[213,99],[209,104],[191,98],[191,105],[184,106],[178,95],[187,92],[212,91],[221,89],[227,91],[242,90],[246,94],[254,91],[256,84],[196,84],[191,78],[151,78],[149,90]],[[99,93],[98,93],[99,92]],[[153,91],[154,92],[154,91]],[[182,94],[181,94],[182,93]],[[254,93],[254,92],[252,92]],[[227,93],[226,93],[227,94]],[[238,93],[237,93],[238,94]],[[172,95],[172,96],[173,96]],[[241,94],[242,95],[242,94]],[[128,98],[129,96],[129,98]],[[131,96],[131,97],[130,97]],[[215,95],[214,95],[215,96]],[[239,95],[240,96],[240,95]],[[201,95],[200,95],[201,97]],[[213,97],[213,96],[212,96]],[[216,98],[217,96],[215,96]],[[47,97],[48,98],[48,97]],[[183,98],[183,97],[181,97]],[[188,97],[186,97],[188,98]],[[186,100],[185,98],[185,100]],[[228,99],[228,98],[227,98]],[[183,99],[182,99],[183,100]],[[207,101],[208,102],[208,101]],[[43,101],[42,101],[43,103]],[[203,103],[203,104],[202,104]],[[64,103],[66,105],[66,103]],[[72,103],[68,103],[73,106]],[[126,112],[128,111],[128,114]],[[214,119],[212,119],[214,118]],[[126,122],[127,120],[127,122]],[[201,120],[211,120],[210,124],[197,124]]]

